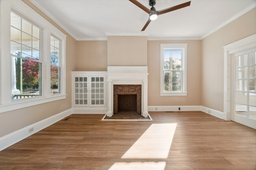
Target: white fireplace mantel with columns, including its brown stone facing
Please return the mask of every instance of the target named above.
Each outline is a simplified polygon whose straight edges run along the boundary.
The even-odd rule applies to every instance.
[[[111,117],[119,111],[119,95],[136,95],[136,111],[148,116],[148,67],[108,66],[108,112]],[[122,97],[121,97],[122,98]],[[127,102],[127,101],[126,101]],[[127,103],[128,105],[128,103]],[[130,103],[130,105],[132,105]],[[124,105],[125,106],[125,105]],[[128,107],[128,106],[127,106]]]

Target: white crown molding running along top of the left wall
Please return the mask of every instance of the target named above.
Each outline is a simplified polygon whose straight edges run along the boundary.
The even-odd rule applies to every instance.
[[[45,13],[50,19],[52,19],[56,24],[58,24],[62,29],[64,29],[67,33],[69,33],[75,40],[77,40],[78,38],[76,36],[74,36],[74,34],[72,34],[72,32],[67,29],[67,27],[65,27],[61,22],[58,21],[57,18],[55,18],[52,13],[50,13],[47,9],[45,9],[45,7],[43,7],[41,4],[39,4],[37,2],[37,0],[30,0],[30,2],[32,2],[32,4],[34,4],[38,9],[40,9],[43,13]],[[77,40],[78,41],[78,40]]]

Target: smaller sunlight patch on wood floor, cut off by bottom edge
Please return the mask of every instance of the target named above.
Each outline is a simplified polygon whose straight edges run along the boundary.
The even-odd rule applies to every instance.
[[[116,162],[109,170],[164,170],[166,162]]]

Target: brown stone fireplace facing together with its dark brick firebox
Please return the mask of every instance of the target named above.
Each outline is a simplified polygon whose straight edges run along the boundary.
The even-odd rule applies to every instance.
[[[121,110],[141,114],[141,85],[113,85],[113,113]]]

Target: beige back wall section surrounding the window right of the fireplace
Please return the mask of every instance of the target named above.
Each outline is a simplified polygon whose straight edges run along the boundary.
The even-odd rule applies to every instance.
[[[160,96],[160,43],[187,44],[187,96]],[[148,41],[148,106],[201,105],[200,40]]]

